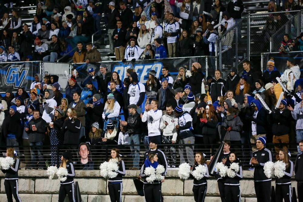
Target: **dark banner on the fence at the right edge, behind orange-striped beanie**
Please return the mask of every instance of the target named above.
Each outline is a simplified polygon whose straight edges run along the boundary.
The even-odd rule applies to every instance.
[[[263,71],[267,69],[267,61],[270,58],[274,58],[275,67],[277,70],[283,74],[285,69],[287,68],[286,62],[287,58],[292,57],[295,59],[295,65],[299,65],[301,70],[301,76],[303,76],[303,52],[288,52],[288,53],[264,53],[264,60],[263,60]]]

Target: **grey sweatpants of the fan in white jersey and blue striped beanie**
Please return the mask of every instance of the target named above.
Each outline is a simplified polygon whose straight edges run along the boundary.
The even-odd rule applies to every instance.
[[[195,137],[186,137],[180,139],[179,144],[194,144]],[[179,146],[180,164],[189,163],[194,164],[194,145]]]

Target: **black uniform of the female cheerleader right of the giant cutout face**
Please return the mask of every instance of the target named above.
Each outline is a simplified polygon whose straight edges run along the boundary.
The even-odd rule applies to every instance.
[[[117,177],[114,178],[108,178],[107,187],[108,187],[109,197],[111,198],[111,202],[122,202],[122,189],[123,189],[122,176],[125,176],[125,165],[123,160],[115,163],[117,163],[119,167],[118,175]]]

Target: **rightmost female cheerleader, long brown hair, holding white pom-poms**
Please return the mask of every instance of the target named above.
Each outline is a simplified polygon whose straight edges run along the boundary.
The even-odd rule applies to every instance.
[[[286,164],[284,176],[276,178],[276,202],[291,201],[291,177],[294,171],[294,164],[288,158],[288,150],[282,149],[279,151],[279,159]]]

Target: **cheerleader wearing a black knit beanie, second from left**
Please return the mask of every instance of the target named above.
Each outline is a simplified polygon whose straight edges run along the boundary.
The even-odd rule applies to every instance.
[[[67,179],[62,182],[60,181],[60,189],[59,189],[59,202],[63,202],[66,194],[68,195],[69,201],[75,202],[75,169],[72,163],[72,154],[69,151],[65,151],[62,153],[60,167],[64,167],[67,169]]]

